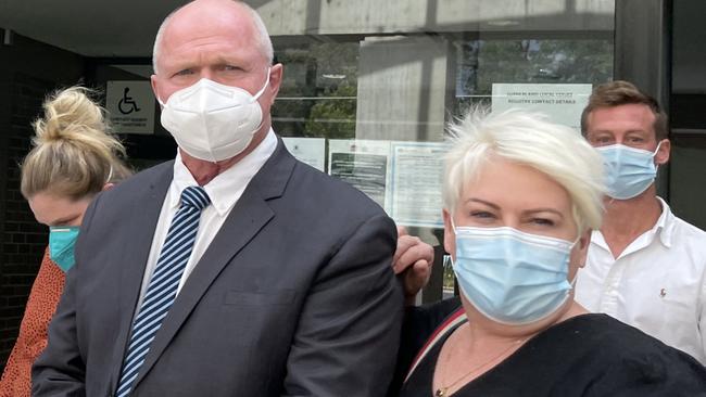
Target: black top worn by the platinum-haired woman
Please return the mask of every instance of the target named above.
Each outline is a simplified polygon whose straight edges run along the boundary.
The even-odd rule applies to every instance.
[[[457,300],[457,299],[456,299]],[[402,350],[419,349],[456,305],[409,311]],[[436,312],[434,312],[436,310]],[[440,311],[442,311],[440,313]],[[453,311],[453,310],[452,310]],[[445,312],[445,313],[443,313]],[[416,331],[413,329],[417,324]],[[421,335],[426,334],[426,336]],[[451,335],[449,333],[446,337]],[[445,341],[445,338],[444,338]],[[399,396],[433,396],[438,343],[402,385]],[[413,355],[414,355],[413,354]],[[411,359],[401,351],[406,372]],[[406,358],[405,358],[406,357]],[[606,315],[582,315],[555,324],[525,343],[455,397],[706,396],[706,369],[694,358]]]

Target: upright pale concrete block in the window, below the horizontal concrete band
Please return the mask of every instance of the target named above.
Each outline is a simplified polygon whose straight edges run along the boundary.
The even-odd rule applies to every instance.
[[[431,37],[365,39],[355,138],[441,141],[447,47]]]

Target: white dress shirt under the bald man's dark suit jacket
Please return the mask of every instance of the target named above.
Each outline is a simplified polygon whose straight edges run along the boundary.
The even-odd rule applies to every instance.
[[[275,152],[276,148],[277,137],[270,129],[265,139],[255,148],[255,150],[242,157],[230,168],[220,172],[203,187],[211,198],[211,205],[206,206],[201,212],[197,240],[193,243],[193,249],[191,251],[189,261],[184,269],[177,294],[181,291],[184,283],[187,281],[189,274],[199,262],[199,259],[201,259],[201,256],[205,253],[206,248],[216,236],[216,233],[218,233],[218,230],[220,230],[220,227],[242,195],[242,192],[245,190],[255,174],[257,174],[260,168],[262,168],[265,162],[267,162],[269,156]],[[137,304],[138,309],[140,305],[142,305],[142,298],[150,283],[150,278],[152,278],[152,273],[156,267],[156,261],[160,258],[160,252],[162,251],[162,245],[164,244],[166,233],[172,223],[172,218],[179,209],[181,191],[188,187],[196,187],[198,184],[199,183],[193,179],[189,169],[181,162],[181,155],[177,151],[177,156],[174,161],[174,179],[172,180],[172,184],[164,197],[164,204],[162,204],[162,212],[160,213],[160,220],[156,223],[154,236],[152,238],[152,247],[150,248],[150,256],[147,259],[147,268],[144,269],[144,276],[142,277],[140,299]]]

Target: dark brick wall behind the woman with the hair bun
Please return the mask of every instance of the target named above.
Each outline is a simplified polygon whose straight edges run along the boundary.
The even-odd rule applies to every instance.
[[[1,35],[0,35],[1,36]],[[0,41],[1,42],[1,41]],[[20,193],[20,163],[30,148],[31,121],[51,91],[77,84],[84,59],[14,36],[0,44],[0,370],[17,337],[29,290],[47,246],[46,226],[37,223]]]

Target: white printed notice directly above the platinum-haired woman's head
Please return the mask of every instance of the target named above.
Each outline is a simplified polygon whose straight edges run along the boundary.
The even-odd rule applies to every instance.
[[[591,85],[493,84],[493,112],[521,107],[546,114],[554,123],[579,129]]]

